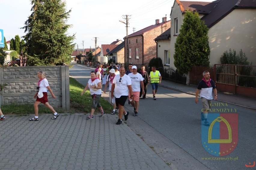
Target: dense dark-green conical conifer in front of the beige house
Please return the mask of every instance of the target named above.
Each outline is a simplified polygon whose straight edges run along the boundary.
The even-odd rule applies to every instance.
[[[197,12],[186,11],[173,56],[180,75],[190,72],[193,66],[209,66],[208,30]]]

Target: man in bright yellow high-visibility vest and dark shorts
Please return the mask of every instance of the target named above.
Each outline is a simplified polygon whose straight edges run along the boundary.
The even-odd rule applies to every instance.
[[[156,93],[159,84],[161,84],[162,76],[159,71],[157,71],[156,66],[152,66],[152,72],[150,72],[149,75],[149,81],[152,85],[152,93],[153,93],[153,99],[156,100]]]

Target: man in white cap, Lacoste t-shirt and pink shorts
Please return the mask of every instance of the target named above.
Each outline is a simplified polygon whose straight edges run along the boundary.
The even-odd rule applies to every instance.
[[[137,72],[137,67],[132,66],[132,73],[128,74],[132,81],[132,89],[134,98],[130,101],[130,104],[134,107],[134,115],[138,116],[138,109],[139,109],[139,93],[140,93],[140,86],[144,89],[143,78],[142,75]],[[145,94],[145,91],[142,91],[142,94]],[[130,98],[130,93],[129,93]]]

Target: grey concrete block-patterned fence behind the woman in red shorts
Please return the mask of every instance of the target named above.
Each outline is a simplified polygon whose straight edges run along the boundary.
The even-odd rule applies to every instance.
[[[45,71],[49,85],[56,96],[48,92],[48,101],[53,107],[70,109],[68,66],[0,67],[0,106],[11,103],[34,104],[38,83],[37,72]]]

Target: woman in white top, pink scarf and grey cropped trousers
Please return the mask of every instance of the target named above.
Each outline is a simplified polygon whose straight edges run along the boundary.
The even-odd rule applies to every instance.
[[[101,111],[101,115],[99,117],[103,117],[105,115],[105,112],[103,111],[102,106],[100,105],[100,102],[99,102],[99,99],[101,97],[101,88],[102,88],[101,81],[99,80],[99,78],[96,77],[96,73],[94,71],[92,71],[90,75],[91,75],[91,78],[89,79],[83,92],[81,92],[81,96],[82,96],[84,92],[87,89],[89,89],[91,97],[93,99],[91,104],[91,114],[89,117],[86,118],[88,120],[91,120],[94,118],[93,114],[96,107],[98,107],[99,110]]]

